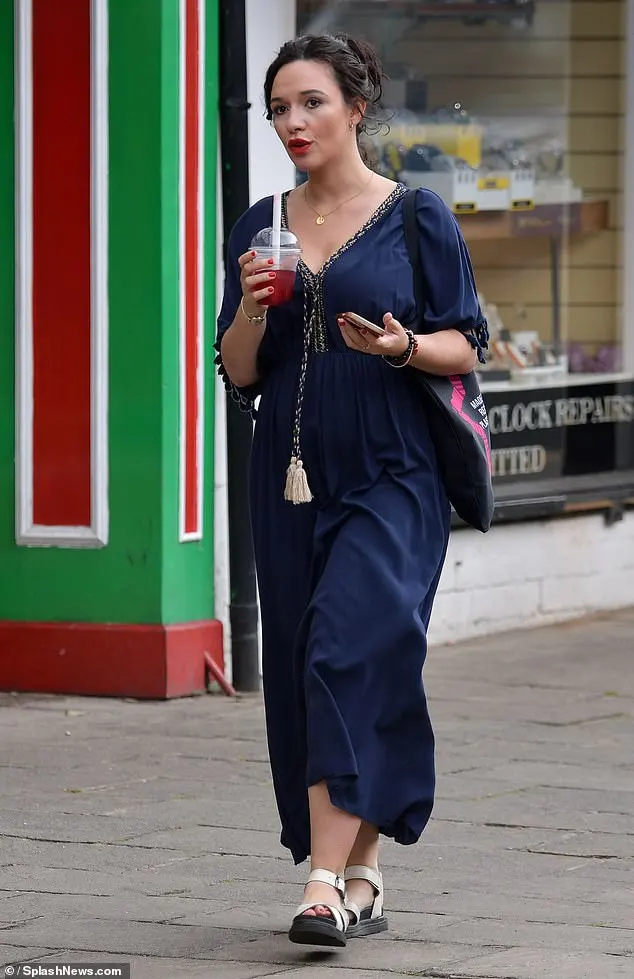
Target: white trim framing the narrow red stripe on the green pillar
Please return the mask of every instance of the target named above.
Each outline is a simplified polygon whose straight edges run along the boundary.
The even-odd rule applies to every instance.
[[[187,532],[185,529],[186,517],[186,450],[187,450],[187,429],[186,429],[186,364],[187,364],[187,322],[186,322],[186,112],[187,112],[187,4],[186,0],[180,0],[179,4],[179,375],[180,375],[180,436],[179,436],[179,507],[178,507],[178,539],[181,543],[202,540],[203,538],[203,494],[204,494],[204,410],[205,410],[205,364],[204,364],[204,344],[205,344],[205,310],[204,310],[204,210],[205,210],[205,3],[198,0],[198,370],[196,374],[197,388],[197,427],[196,427],[196,478],[198,481],[197,499],[197,529]]]

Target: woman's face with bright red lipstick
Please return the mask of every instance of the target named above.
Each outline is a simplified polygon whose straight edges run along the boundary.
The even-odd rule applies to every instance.
[[[345,102],[329,65],[293,61],[280,68],[271,92],[275,131],[300,170],[314,170],[356,145],[358,109]]]

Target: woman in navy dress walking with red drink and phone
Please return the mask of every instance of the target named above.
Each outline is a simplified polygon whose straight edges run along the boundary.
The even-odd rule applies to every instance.
[[[486,346],[460,231],[423,190],[428,302],[421,335],[406,328],[417,322],[406,191],[359,150],[381,78],[376,53],[341,35],[290,41],[270,66],[268,117],[308,178],[283,207],[300,274],[292,300],[267,311],[275,273],[249,251],[272,223],[272,199],[260,201],[231,235],[216,341],[242,406],[262,396],[251,516],[264,697],[282,843],[311,859],[289,932],[305,944],[387,927],[379,834],[414,843],[431,813],[421,674],[450,507],[412,368],[465,373]],[[384,335],[350,326],[348,311]]]

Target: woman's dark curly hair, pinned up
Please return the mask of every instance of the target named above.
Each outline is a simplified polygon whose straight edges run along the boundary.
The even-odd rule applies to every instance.
[[[304,34],[284,44],[275,60],[269,65],[264,80],[266,118],[271,121],[271,92],[275,77],[285,65],[293,61],[321,61],[334,73],[341,94],[350,106],[366,103],[363,119],[357,125],[357,139],[361,133],[376,133],[383,120],[383,79],[385,73],[380,58],[371,44],[358,41],[348,34]]]

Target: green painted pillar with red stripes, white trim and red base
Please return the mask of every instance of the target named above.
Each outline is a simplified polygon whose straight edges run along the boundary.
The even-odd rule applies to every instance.
[[[216,6],[0,4],[3,690],[178,696],[222,669]]]

